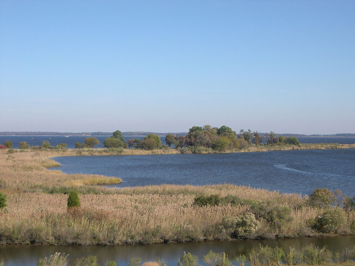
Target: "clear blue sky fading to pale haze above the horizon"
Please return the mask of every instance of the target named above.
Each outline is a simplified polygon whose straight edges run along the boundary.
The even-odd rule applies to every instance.
[[[355,133],[355,1],[0,0],[0,131]]]

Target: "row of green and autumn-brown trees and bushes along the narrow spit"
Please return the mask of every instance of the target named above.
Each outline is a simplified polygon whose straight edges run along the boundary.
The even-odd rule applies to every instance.
[[[266,138],[266,143],[263,140]],[[93,148],[99,145],[100,142],[95,137],[87,137],[84,142],[76,142],[75,148]],[[203,152],[224,152],[242,149],[250,145],[300,145],[297,137],[285,137],[277,135],[274,132],[264,133],[262,135],[258,131],[252,132],[250,129],[244,131],[241,129],[237,134],[230,127],[222,126],[220,128],[205,125],[203,127],[193,126],[186,135],[173,135],[168,133],[165,136],[165,144],[162,144],[160,137],[157,134],[147,134],[145,138],[130,138],[125,140],[121,131],[116,130],[112,136],[105,138],[103,145],[106,148],[135,148],[135,149],[168,149],[173,145],[174,148],[180,149],[181,153],[203,153]],[[12,148],[12,142],[7,140],[0,148]],[[30,148],[27,142],[20,143],[20,149]],[[33,148],[66,148],[65,143],[60,143],[53,147],[48,141],[43,141],[42,146]]]

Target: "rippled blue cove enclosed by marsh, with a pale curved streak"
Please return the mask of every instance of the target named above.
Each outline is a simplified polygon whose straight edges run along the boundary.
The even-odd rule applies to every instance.
[[[156,184],[250,185],[310,195],[327,187],[354,196],[355,148],[264,153],[57,157],[64,173],[116,176],[112,186]]]

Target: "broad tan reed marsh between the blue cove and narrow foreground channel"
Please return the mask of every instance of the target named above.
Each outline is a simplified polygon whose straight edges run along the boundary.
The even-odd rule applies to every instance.
[[[98,175],[64,174],[45,168],[52,156],[73,151],[0,153],[0,244],[116,245],[295,238],[324,234],[315,220],[327,210],[308,197],[230,184],[158,185],[107,188],[119,182]],[[75,151],[74,151],[75,152]],[[66,194],[79,192],[80,208],[67,210]],[[196,204],[198,197],[219,204]],[[338,210],[338,209],[337,209]],[[328,233],[354,234],[355,211],[339,209],[343,219]]]

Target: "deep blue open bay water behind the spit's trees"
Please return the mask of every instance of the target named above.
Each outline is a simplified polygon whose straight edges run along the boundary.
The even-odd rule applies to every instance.
[[[103,140],[109,136],[0,136],[0,144],[4,144],[9,139],[13,143],[13,148],[19,148],[22,141],[27,142],[30,146],[41,146],[42,142],[47,140],[52,146],[66,143],[67,148],[75,148],[76,142],[84,142],[87,137],[95,137],[100,141],[100,144],[94,148],[103,148]],[[130,138],[144,139],[144,136],[125,136],[124,138],[126,140]],[[161,136],[160,139],[162,144],[165,144],[165,136]],[[355,137],[298,137],[298,139],[301,143],[355,143]],[[263,143],[266,143],[266,138]]]

